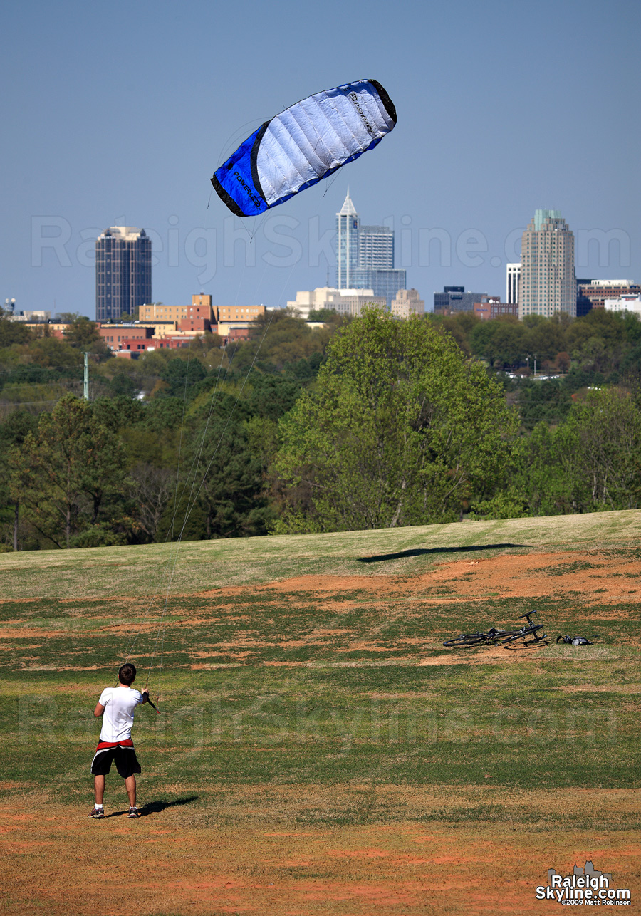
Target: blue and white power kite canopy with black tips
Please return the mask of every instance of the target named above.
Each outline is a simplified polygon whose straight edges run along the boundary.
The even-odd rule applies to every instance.
[[[348,82],[266,121],[216,169],[212,185],[237,216],[264,213],[374,149],[396,123],[380,82]]]

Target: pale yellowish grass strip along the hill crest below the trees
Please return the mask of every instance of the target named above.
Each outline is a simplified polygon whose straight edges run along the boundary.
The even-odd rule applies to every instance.
[[[531,550],[622,548],[638,555],[641,512],[466,521],[448,525],[176,545],[0,554],[3,597],[144,599],[299,575],[417,575],[437,563]]]

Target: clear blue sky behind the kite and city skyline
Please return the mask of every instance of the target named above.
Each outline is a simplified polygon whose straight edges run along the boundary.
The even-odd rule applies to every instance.
[[[152,235],[154,300],[284,305],[333,285],[348,184],[429,308],[444,285],[504,297],[538,208],[574,231],[577,276],[641,281],[638,0],[23,0],[0,27],[0,300],[17,310],[94,317],[113,224]],[[397,106],[379,147],[258,219],[210,201],[257,125],[364,77]]]

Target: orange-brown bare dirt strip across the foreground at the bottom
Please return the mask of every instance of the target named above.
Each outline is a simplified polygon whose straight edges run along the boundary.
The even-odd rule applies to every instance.
[[[612,872],[616,887],[631,889],[633,905],[641,895],[638,834],[564,822],[565,791],[382,786],[373,792],[383,808],[422,812],[424,819],[300,829],[288,820],[310,805],[329,809],[353,790],[270,787],[268,807],[266,790],[237,787],[230,796],[229,789],[219,795],[212,788],[204,808],[168,807],[137,821],[108,803],[101,822],[54,802],[40,803],[37,819],[28,817],[27,797],[0,805],[3,912],[22,914],[46,901],[52,916],[115,916],[125,885],[128,908],[140,916],[542,916],[550,904],[536,900],[535,888],[546,883],[549,867],[567,874],[587,859]],[[443,817],[479,803],[505,812],[503,823]],[[248,804],[263,813],[245,822]],[[583,790],[581,807],[612,818],[638,812],[640,802],[624,790]],[[549,829],[524,823],[524,812],[526,822],[530,815],[549,818]],[[230,817],[232,826],[224,823]]]

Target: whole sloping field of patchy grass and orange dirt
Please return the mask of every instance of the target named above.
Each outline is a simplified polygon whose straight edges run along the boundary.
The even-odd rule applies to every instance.
[[[542,913],[548,868],[590,858],[641,911],[640,533],[616,512],[1,555],[3,911],[117,912],[125,880],[158,916]],[[530,610],[546,646],[442,645]],[[92,709],[127,651],[160,709],[136,714],[147,816],[96,823]]]

